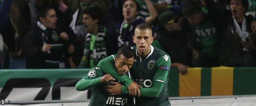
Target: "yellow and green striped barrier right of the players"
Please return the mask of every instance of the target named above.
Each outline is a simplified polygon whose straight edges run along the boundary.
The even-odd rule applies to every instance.
[[[256,68],[188,68],[186,75],[171,68],[168,91],[170,97],[255,95]]]

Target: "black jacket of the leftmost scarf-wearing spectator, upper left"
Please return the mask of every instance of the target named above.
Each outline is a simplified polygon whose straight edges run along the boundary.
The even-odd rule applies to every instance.
[[[26,68],[53,68],[46,67],[45,60],[63,61],[68,57],[67,44],[63,40],[53,40],[53,30],[48,30],[47,33],[41,30],[37,24],[32,24],[30,31],[24,37],[24,43],[22,51],[26,57]],[[51,53],[44,53],[42,47],[44,44],[42,33],[46,33],[48,40],[45,40],[46,44],[63,44],[63,48],[60,51],[52,51]],[[59,35],[59,33],[57,33]]]

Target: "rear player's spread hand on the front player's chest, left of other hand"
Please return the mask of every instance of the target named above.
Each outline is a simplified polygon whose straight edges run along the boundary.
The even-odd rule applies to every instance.
[[[109,93],[110,95],[119,95],[121,94],[121,90],[122,90],[122,85],[118,82],[111,82],[112,86],[105,86],[107,93]]]

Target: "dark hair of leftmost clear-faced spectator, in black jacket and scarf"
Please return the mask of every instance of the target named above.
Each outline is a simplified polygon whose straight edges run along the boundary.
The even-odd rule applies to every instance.
[[[37,7],[37,18],[46,18],[47,13],[50,9],[54,9],[52,5],[43,4]]]

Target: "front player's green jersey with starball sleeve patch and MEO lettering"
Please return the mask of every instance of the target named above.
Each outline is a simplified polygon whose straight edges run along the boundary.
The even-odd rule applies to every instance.
[[[76,88],[80,89],[92,87],[89,106],[134,106],[133,97],[126,94],[112,96],[104,91],[104,86],[112,85],[111,82],[100,82],[104,75],[105,73],[101,68],[95,67],[76,85]],[[130,76],[129,73],[127,75]],[[118,80],[115,82],[118,82]]]

